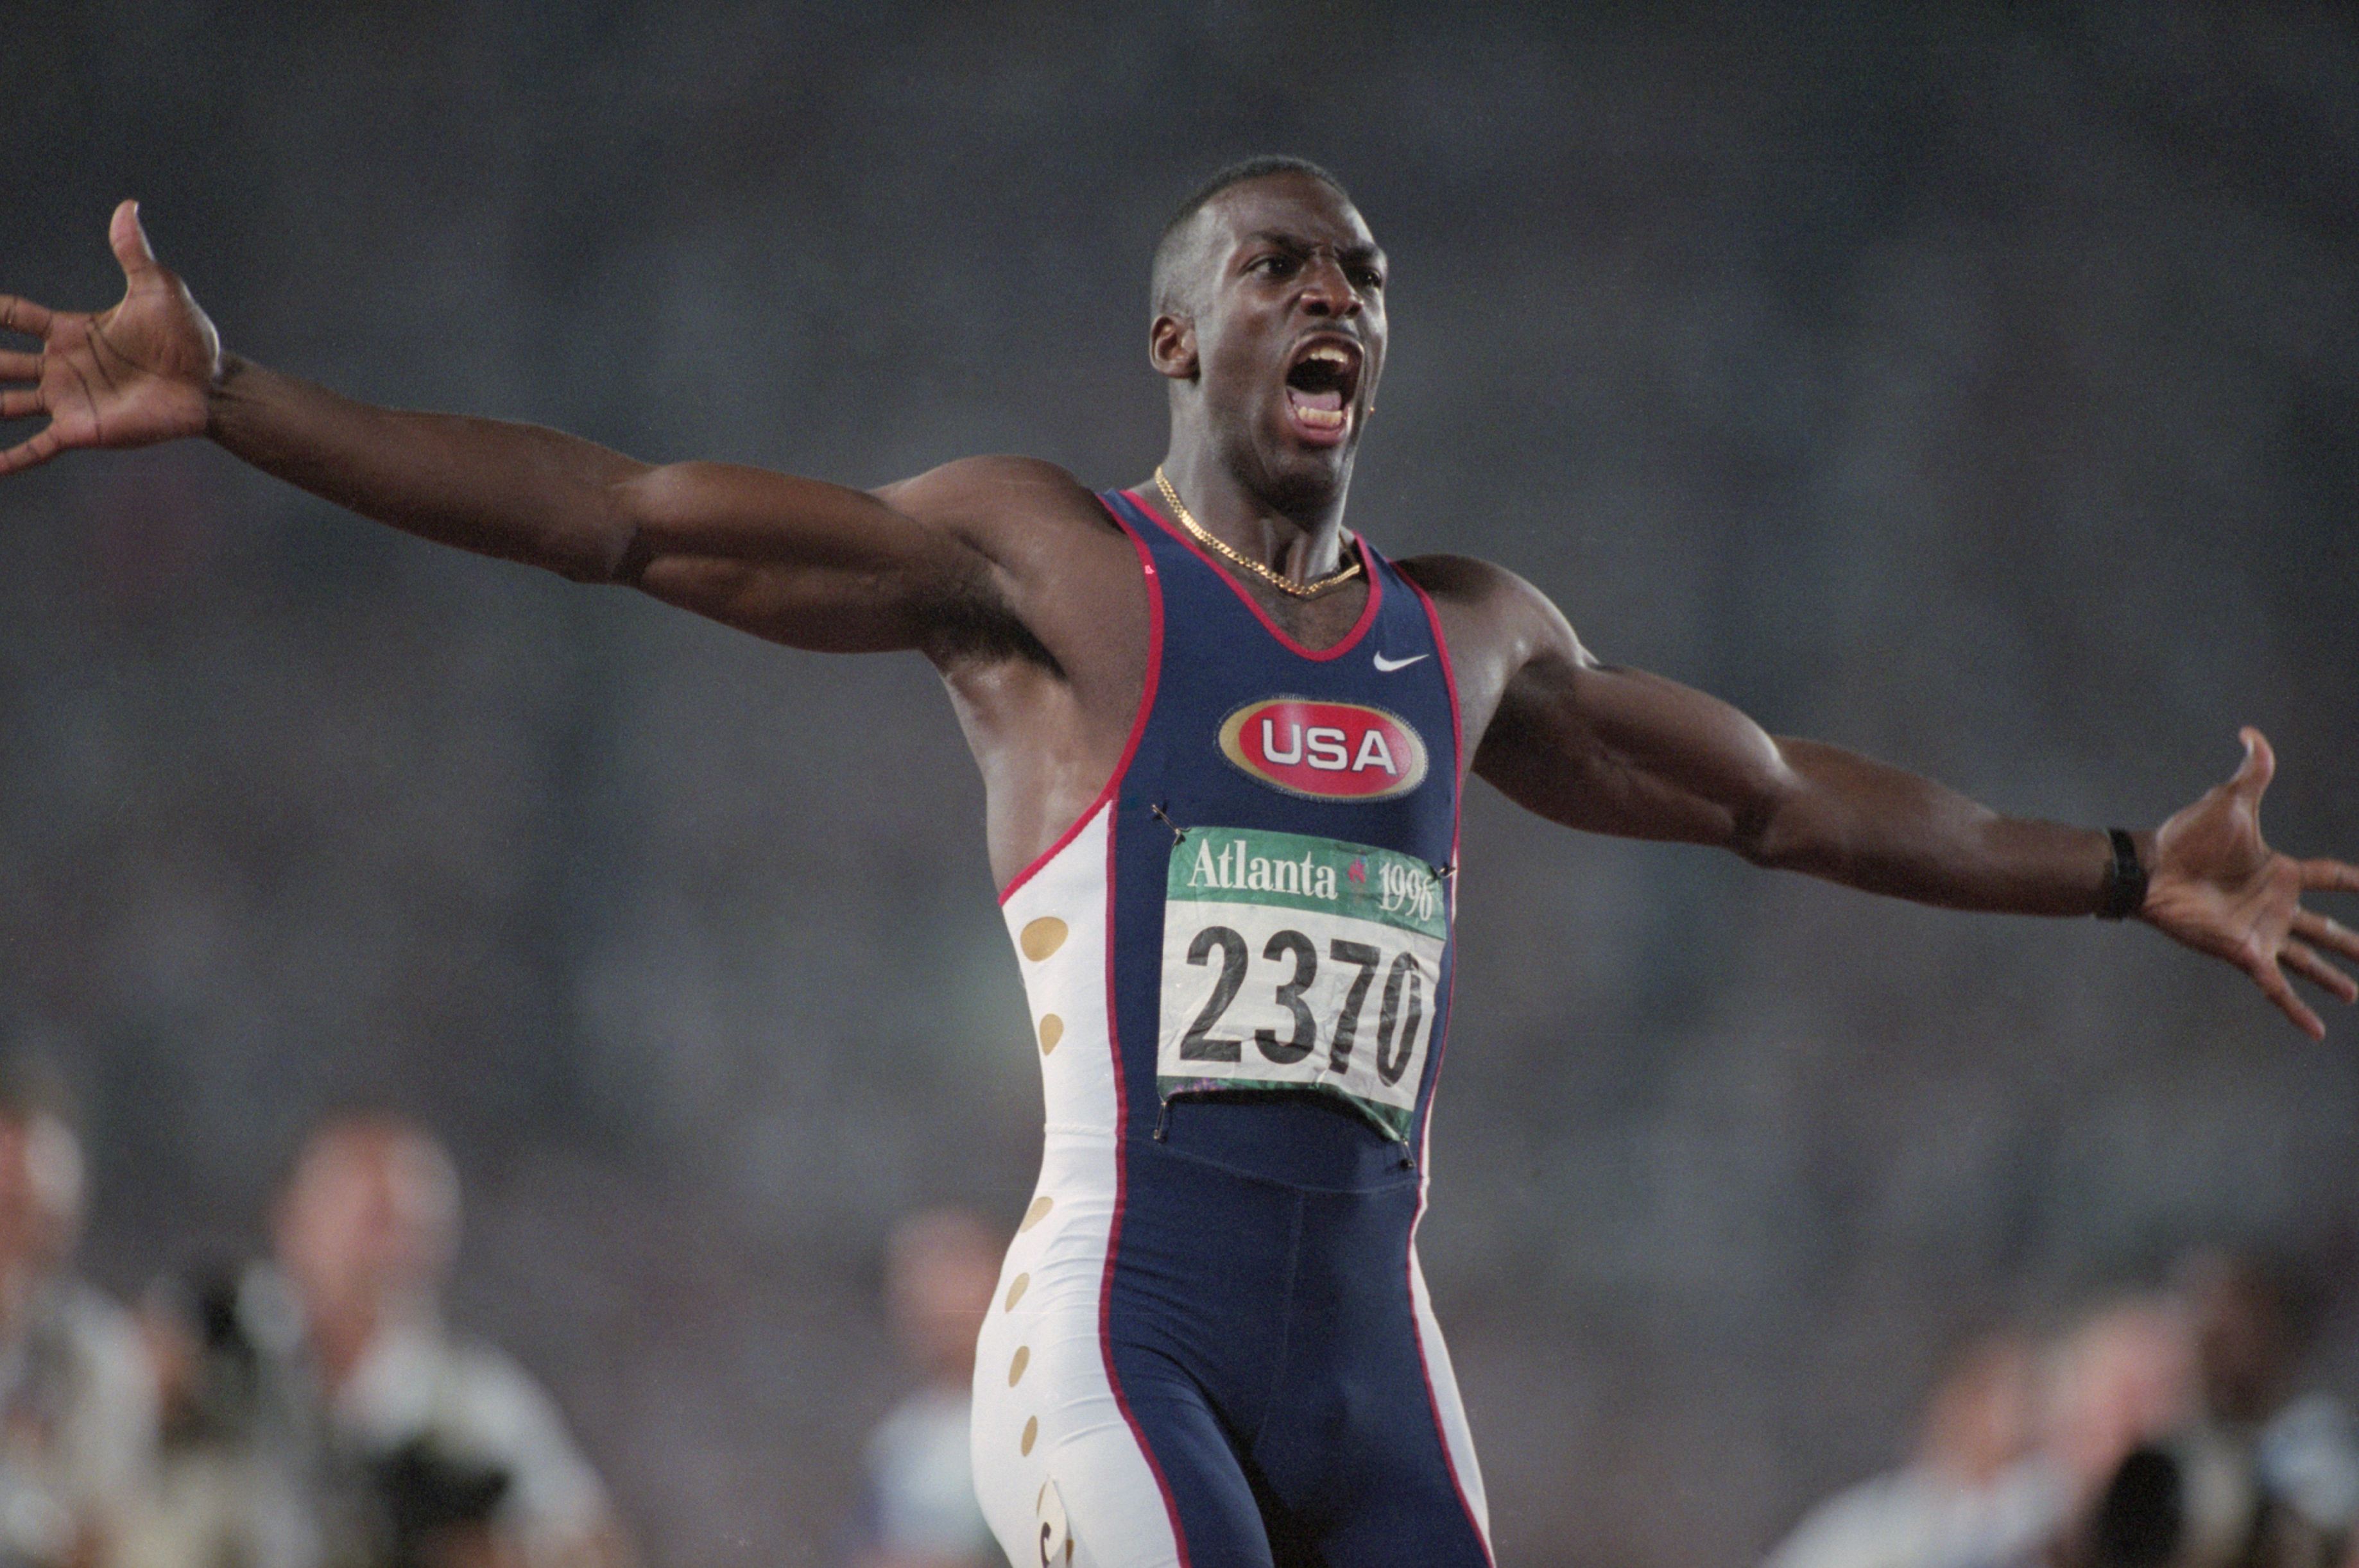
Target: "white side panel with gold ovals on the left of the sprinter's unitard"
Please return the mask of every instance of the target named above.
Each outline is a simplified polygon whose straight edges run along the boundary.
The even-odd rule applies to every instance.
[[[1170,1507],[1106,1372],[1099,1306],[1118,1200],[1121,1101],[1106,995],[1097,811],[1005,905],[1047,1099],[1040,1186],[1000,1266],[974,1358],[974,1490],[1019,1568],[1177,1563]]]

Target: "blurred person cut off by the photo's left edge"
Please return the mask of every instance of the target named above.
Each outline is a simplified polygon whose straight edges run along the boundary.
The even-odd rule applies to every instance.
[[[0,1063],[0,1563],[113,1561],[156,1457],[156,1379],[130,1313],[68,1264],[83,1151],[33,1061]]]

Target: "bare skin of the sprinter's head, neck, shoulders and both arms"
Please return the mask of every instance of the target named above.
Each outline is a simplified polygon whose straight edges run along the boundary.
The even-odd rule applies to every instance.
[[[1217,538],[1307,582],[1347,559],[1352,455],[1385,363],[1385,257],[1323,179],[1234,184],[1191,219],[1158,297],[1149,361],[1168,382],[1163,469]],[[125,297],[83,316],[0,297],[0,417],[47,417],[0,474],[83,446],[210,436],[245,462],[420,538],[627,582],[795,648],[915,648],[941,672],[984,773],[991,863],[1012,877],[1111,776],[1139,703],[1146,594],[1137,556],[1071,474],[970,457],[875,493],[762,469],[651,467],[559,431],[396,413],[264,370],[165,271],[137,210],[111,243]],[[1333,391],[1288,389],[1340,351]],[[1151,483],[1137,486],[1156,498]],[[1465,556],[1404,561],[1434,599],[1472,769],[1571,828],[1717,844],[1760,865],[1920,903],[2095,913],[2107,835],[1998,816],[1913,773],[1814,740],[1767,736],[1729,705],[1597,663],[1512,573]],[[1359,615],[1366,580],[1297,601],[1238,585],[1307,646]],[[2260,837],[2274,757],[2243,731],[2236,773],[2137,835],[2151,868],[2137,915],[2243,969],[2324,1035],[2302,976],[2359,1000],[2326,955],[2359,936],[2302,908],[2359,889],[2359,868],[2293,861]]]

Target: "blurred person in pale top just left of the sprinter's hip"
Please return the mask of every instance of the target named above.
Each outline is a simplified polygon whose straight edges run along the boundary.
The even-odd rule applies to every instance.
[[[984,1568],[1000,1549],[974,1500],[967,1405],[974,1337],[1007,1238],[965,1210],[901,1221],[885,1261],[885,1311],[918,1386],[868,1438],[854,1568]]]

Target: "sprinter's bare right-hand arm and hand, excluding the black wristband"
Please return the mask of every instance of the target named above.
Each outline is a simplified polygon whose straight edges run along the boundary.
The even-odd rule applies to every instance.
[[[1474,771],[1519,804],[1595,832],[1732,849],[1757,865],[1918,903],[2090,915],[2104,896],[2102,830],[2000,816],[1930,778],[1816,740],[1765,733],[1727,703],[1590,658],[1564,615],[1496,568],[1456,568],[1463,601],[1500,627],[1498,703]],[[2243,731],[2234,778],[2137,846],[2151,868],[2137,917],[2243,969],[2298,1028],[2326,1028],[2288,976],[2359,1000],[2324,953],[2359,960],[2359,934],[2302,908],[2305,891],[2359,889],[2359,868],[2293,861],[2260,837],[2274,757]]]

